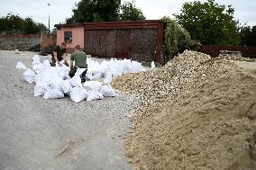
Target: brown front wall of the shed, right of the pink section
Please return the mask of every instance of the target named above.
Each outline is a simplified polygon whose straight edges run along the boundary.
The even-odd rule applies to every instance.
[[[155,58],[157,29],[85,30],[85,51],[99,58]]]

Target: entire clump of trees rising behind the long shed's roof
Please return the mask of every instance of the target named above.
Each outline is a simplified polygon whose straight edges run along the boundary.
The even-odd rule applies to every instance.
[[[81,0],[75,4],[73,14],[67,23],[75,22],[113,22],[144,20],[141,9],[133,2],[121,0]]]

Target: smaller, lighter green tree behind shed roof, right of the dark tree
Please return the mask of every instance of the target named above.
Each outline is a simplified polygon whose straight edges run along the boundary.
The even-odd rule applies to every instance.
[[[135,2],[124,2],[120,6],[119,20],[121,21],[137,21],[145,20],[146,17],[142,10],[136,7]]]

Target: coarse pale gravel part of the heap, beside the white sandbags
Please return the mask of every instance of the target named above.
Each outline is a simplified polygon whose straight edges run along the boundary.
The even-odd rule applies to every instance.
[[[182,90],[187,89],[187,82],[197,76],[205,76],[206,67],[202,67],[202,64],[209,59],[206,54],[186,50],[164,67],[157,67],[149,72],[117,76],[112,85],[115,89],[137,94],[146,103],[169,96],[176,98]]]

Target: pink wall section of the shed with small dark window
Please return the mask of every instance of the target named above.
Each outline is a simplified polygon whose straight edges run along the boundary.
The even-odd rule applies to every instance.
[[[72,25],[72,27],[57,27],[57,45],[65,41],[67,43],[67,52],[74,51],[76,45],[84,49],[84,26],[82,24]]]

